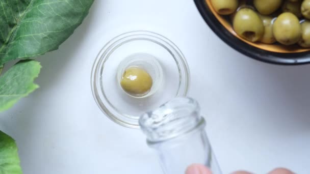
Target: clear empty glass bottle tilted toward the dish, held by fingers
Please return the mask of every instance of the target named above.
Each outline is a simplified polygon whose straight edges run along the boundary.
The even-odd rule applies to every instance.
[[[221,173],[195,100],[174,98],[143,114],[139,124],[148,146],[157,151],[164,173],[185,173],[194,163],[208,166],[214,174]]]

